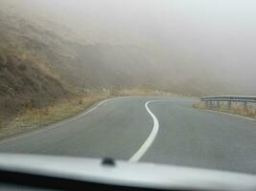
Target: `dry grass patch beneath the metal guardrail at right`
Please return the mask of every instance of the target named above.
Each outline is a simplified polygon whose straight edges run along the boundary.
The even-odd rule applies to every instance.
[[[255,105],[249,105],[247,109],[244,109],[244,107],[241,104],[233,105],[230,110],[227,109],[225,105],[221,105],[220,108],[212,107],[207,108],[203,102],[199,102],[197,104],[194,104],[193,107],[199,108],[199,109],[208,109],[208,110],[214,110],[214,111],[220,111],[228,114],[235,114],[239,116],[244,117],[252,117],[256,118],[256,107]]]

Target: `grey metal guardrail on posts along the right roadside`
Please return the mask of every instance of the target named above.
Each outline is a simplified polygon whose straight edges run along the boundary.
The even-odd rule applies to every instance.
[[[256,103],[256,96],[204,96],[201,101],[204,101],[206,107],[220,107],[220,102],[227,102],[228,109],[231,108],[232,102],[242,102],[246,109],[247,103]]]

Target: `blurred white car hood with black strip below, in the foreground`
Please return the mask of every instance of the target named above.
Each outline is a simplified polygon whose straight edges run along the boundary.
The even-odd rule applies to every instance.
[[[256,177],[191,167],[40,155],[0,154],[0,190],[256,190]],[[91,190],[90,189],[90,190]],[[11,190],[11,189],[10,189]],[[13,190],[13,189],[12,189]]]

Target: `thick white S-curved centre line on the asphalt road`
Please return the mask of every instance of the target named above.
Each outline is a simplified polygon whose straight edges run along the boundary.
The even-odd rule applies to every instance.
[[[160,101],[160,100],[152,100],[148,101],[145,104],[147,112],[151,115],[152,120],[153,120],[153,128],[151,131],[151,135],[149,138],[146,139],[146,141],[143,143],[143,145],[139,148],[139,150],[130,158],[128,161],[130,162],[137,162],[139,159],[141,159],[144,154],[148,151],[148,149],[151,147],[151,143],[153,142],[154,138],[156,137],[158,131],[159,131],[159,121],[158,119],[154,116],[154,114],[151,112],[149,108],[149,104],[154,101]]]

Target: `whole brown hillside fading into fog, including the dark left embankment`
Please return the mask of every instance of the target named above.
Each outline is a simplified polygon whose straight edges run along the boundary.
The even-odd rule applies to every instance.
[[[77,89],[151,89],[189,96],[239,93],[239,87],[224,84],[211,68],[190,61],[191,55],[153,47],[154,42],[128,32],[116,39],[103,33],[92,37],[54,17],[8,4],[0,8],[0,26],[2,117],[26,107],[45,107]]]

